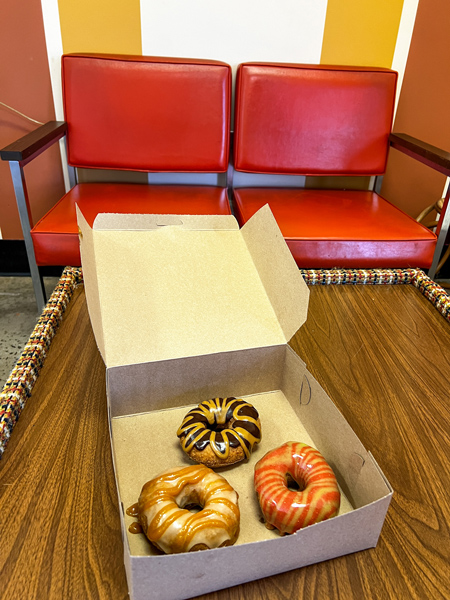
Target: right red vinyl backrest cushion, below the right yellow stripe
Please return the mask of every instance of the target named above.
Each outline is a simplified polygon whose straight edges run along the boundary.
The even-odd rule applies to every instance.
[[[377,175],[386,168],[397,73],[281,63],[238,68],[235,168]]]

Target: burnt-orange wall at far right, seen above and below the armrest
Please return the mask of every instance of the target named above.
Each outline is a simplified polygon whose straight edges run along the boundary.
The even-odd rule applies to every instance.
[[[394,131],[450,151],[448,0],[419,2]],[[382,194],[410,215],[441,197],[445,176],[391,150]]]

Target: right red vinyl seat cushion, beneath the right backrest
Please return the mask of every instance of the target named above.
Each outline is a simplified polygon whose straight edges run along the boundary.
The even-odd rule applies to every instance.
[[[436,236],[374,192],[235,189],[243,225],[269,204],[301,268],[429,268]]]

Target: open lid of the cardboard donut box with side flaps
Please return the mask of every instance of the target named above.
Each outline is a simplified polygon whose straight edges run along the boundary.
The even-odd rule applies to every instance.
[[[232,216],[77,207],[86,299],[108,367],[285,344],[308,288],[268,207]]]

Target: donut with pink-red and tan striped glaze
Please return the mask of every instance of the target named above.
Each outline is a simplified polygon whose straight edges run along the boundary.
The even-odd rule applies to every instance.
[[[254,483],[266,527],[281,535],[339,510],[341,494],[331,467],[318,450],[301,442],[287,442],[263,456],[255,465]],[[298,491],[289,489],[295,484]]]

